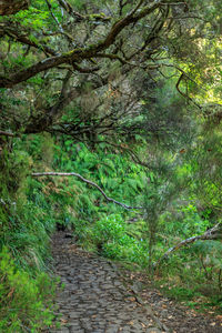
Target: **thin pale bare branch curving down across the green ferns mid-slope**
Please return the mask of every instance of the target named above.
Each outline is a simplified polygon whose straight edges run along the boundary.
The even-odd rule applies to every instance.
[[[115,204],[119,204],[119,205],[123,206],[123,208],[127,209],[127,210],[140,210],[140,209],[142,209],[142,206],[131,206],[131,205],[127,205],[127,204],[124,204],[124,203],[122,203],[122,202],[119,202],[119,201],[112,199],[112,198],[109,198],[109,196],[104,193],[104,191],[103,191],[98,184],[95,184],[94,182],[92,182],[92,181],[90,181],[90,180],[83,178],[81,174],[75,173],[75,172],[36,172],[36,173],[32,173],[31,175],[32,175],[32,176],[43,176],[43,175],[59,175],[59,176],[71,176],[71,175],[72,175],[72,176],[77,176],[77,178],[79,178],[81,181],[83,181],[84,183],[87,183],[87,184],[89,184],[89,185],[92,185],[92,186],[97,188],[97,189],[102,193],[102,195],[105,198],[105,200],[109,201],[109,202],[113,202],[113,203],[115,203]]]

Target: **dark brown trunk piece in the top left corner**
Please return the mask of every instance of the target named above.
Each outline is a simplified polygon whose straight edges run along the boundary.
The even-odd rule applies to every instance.
[[[14,14],[20,10],[28,9],[29,0],[0,0],[0,16]]]

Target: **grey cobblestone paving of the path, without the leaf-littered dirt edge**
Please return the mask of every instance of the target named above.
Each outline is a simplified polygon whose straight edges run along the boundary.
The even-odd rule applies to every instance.
[[[63,233],[53,239],[56,274],[64,289],[57,299],[61,333],[161,333],[161,327],[123,286],[114,268],[105,260],[77,248]]]

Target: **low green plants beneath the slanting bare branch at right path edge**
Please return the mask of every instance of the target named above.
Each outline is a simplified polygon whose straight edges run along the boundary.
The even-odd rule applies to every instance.
[[[190,306],[201,310],[214,306],[221,312],[221,250],[219,241],[195,242],[169,259],[157,284],[168,296]]]

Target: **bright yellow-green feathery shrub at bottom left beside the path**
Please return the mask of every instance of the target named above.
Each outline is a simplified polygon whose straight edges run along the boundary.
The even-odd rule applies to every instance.
[[[9,250],[3,248],[0,252],[0,276],[1,332],[39,332],[51,324],[54,284],[47,274],[31,278],[17,268]]]

